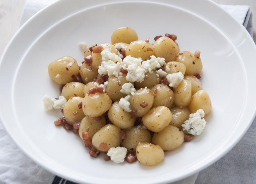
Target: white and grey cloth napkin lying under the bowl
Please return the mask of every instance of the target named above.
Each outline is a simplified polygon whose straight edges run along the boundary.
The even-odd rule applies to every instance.
[[[20,26],[36,12],[56,0],[28,0]],[[222,6],[252,34],[252,12],[249,6]],[[243,139],[223,158],[188,178],[172,184],[256,184],[256,120]],[[73,184],[43,169],[14,144],[0,122],[1,184]]]

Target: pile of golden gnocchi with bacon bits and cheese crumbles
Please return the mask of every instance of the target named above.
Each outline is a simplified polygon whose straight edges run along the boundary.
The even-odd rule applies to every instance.
[[[43,97],[44,107],[63,112],[54,124],[78,134],[90,156],[155,166],[203,131],[212,105],[200,81],[200,51],[180,51],[176,35],[154,40],[120,27],[111,43],[80,43],[81,65],[71,56],[48,65],[62,86],[59,97]]]

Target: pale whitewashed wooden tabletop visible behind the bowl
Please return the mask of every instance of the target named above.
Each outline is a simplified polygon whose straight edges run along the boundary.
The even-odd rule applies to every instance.
[[[26,0],[0,0],[0,55],[18,29]],[[213,0],[218,4],[249,5],[253,12],[253,34],[256,42],[256,0]]]

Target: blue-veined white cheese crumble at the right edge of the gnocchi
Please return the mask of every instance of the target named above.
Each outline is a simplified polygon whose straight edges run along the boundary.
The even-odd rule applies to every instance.
[[[186,130],[192,135],[200,135],[206,125],[206,121],[203,117],[204,111],[202,109],[197,110],[196,113],[190,114],[189,119],[182,124],[183,130]]]

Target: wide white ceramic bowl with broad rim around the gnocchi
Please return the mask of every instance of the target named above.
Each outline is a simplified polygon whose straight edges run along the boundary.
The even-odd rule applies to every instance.
[[[64,55],[80,63],[79,42],[110,42],[112,32],[121,26],[135,29],[141,40],[175,34],[181,51],[201,51],[201,81],[211,97],[212,113],[200,136],[166,153],[155,167],[90,157],[78,136],[54,126],[61,113],[46,112],[43,107],[45,94],[57,97],[60,92],[48,76],[48,64]],[[217,161],[250,127],[256,104],[254,53],[256,47],[246,29],[209,0],[57,1],[26,22],[1,57],[1,122],[26,155],[69,180],[177,181]]]

